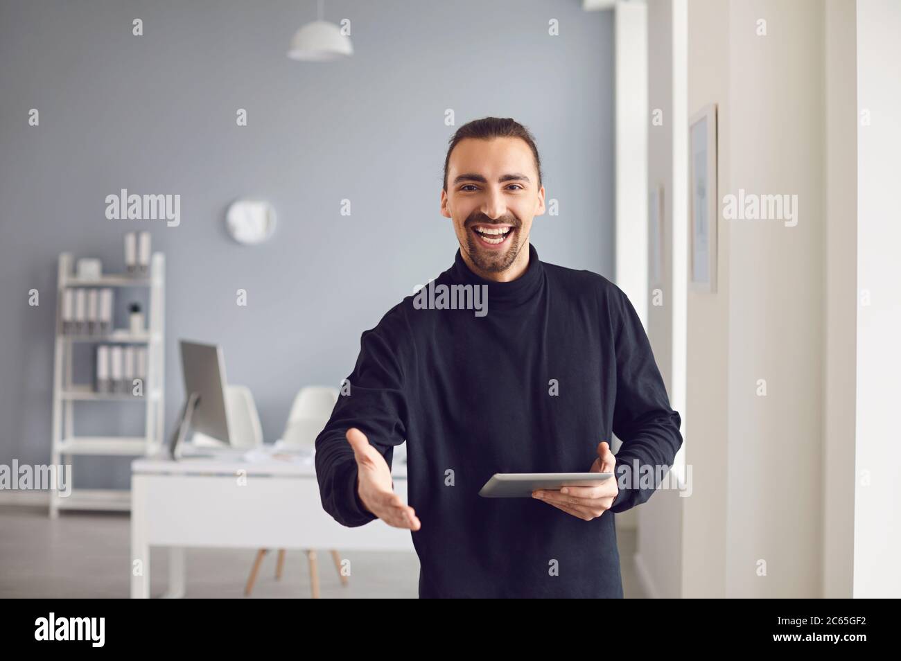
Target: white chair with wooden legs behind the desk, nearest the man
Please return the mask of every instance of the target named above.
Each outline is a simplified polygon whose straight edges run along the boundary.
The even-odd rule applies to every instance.
[[[326,385],[309,385],[302,388],[294,398],[291,405],[291,412],[287,416],[287,424],[285,431],[282,433],[282,443],[287,448],[308,448],[314,449],[316,437],[325,427],[325,423],[332,416],[332,409],[338,401],[338,390]],[[260,548],[257,551],[257,557],[253,561],[253,567],[250,569],[250,576],[247,579],[247,585],[244,587],[244,594],[250,596],[253,592],[253,584],[256,583],[259,565],[266,557],[268,548]],[[310,582],[313,585],[313,598],[319,598],[319,573],[316,569],[316,551],[309,548],[306,556],[310,566]],[[347,585],[347,576],[341,574],[341,557],[338,551],[332,549],[332,560],[338,575],[341,578],[341,585]],[[278,561],[276,563],[276,580],[281,578],[282,569],[285,566],[285,549],[278,549]]]

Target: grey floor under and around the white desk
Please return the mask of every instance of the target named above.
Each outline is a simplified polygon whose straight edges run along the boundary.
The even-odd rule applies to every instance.
[[[635,533],[619,530],[623,591],[643,597],[635,575]],[[127,597],[129,593],[127,513],[63,512],[51,521],[46,508],[0,506],[0,598]],[[215,548],[187,550],[188,597],[244,598],[244,582],[256,552]],[[416,598],[419,559],[414,553],[344,552],[352,575],[341,587],[332,556],[317,553],[323,598]],[[150,551],[150,594],[166,589],[168,557]],[[303,551],[288,551],[284,575],[275,580],[276,556],[269,553],[253,598],[307,598],[310,576]]]

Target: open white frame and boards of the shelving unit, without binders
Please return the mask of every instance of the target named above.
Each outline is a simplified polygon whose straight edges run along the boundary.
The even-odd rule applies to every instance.
[[[164,293],[166,284],[165,256],[156,252],[150,258],[148,276],[109,275],[93,280],[77,278],[74,274],[72,255],[59,255],[57,280],[56,344],[53,360],[53,449],[54,466],[71,464],[74,455],[86,456],[148,456],[156,454],[163,439],[163,351],[165,328]],[[150,288],[150,307],[147,314],[147,331],[132,333],[116,330],[103,335],[72,335],[63,333],[62,300],[68,287],[135,287]],[[147,376],[143,395],[97,393],[93,385],[72,381],[72,352],[77,343],[138,344],[147,347]],[[141,403],[145,408],[143,436],[77,436],[75,433],[75,403],[106,402],[109,405]],[[77,482],[73,475],[73,482]],[[56,518],[59,510],[120,510],[131,508],[131,491],[128,489],[79,489],[60,497],[50,492],[50,517]]]

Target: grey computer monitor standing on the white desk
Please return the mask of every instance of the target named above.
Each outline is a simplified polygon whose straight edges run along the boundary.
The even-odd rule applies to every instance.
[[[199,431],[225,446],[232,444],[225,403],[225,361],[222,348],[179,340],[185,378],[185,404],[169,442],[169,454],[181,456],[188,435]]]

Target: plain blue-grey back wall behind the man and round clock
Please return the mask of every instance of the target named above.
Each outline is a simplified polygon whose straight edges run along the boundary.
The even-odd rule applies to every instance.
[[[285,52],[312,0],[2,2],[0,463],[50,460],[59,252],[119,271],[129,229],[149,229],[168,262],[167,433],[183,396],[177,339],[190,338],[223,345],[229,381],[250,386],[278,438],[297,390],[338,385],[360,333],[451,264],[446,108],[458,126],[496,115],[532,129],[560,200],[532,242],[546,261],[612,278],[612,16],[580,5],[331,0],[325,18],[350,19],[356,54],[307,64]],[[121,188],[181,195],[181,224],[106,220],[105,195]],[[239,195],[275,204],[273,240],[228,237]],[[137,404],[77,406],[79,434],[140,432]],[[77,485],[128,484],[126,459],[76,466]]]

